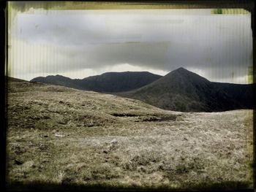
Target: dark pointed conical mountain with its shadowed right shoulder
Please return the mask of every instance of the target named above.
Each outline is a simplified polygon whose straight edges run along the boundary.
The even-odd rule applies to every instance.
[[[217,112],[252,109],[252,86],[210,82],[178,68],[142,88],[118,93],[165,110]]]

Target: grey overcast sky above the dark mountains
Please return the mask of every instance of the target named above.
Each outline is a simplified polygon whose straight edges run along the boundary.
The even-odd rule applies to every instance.
[[[217,82],[248,83],[251,15],[211,9],[18,12],[10,30],[10,76],[31,80],[104,72],[165,75],[184,67]]]

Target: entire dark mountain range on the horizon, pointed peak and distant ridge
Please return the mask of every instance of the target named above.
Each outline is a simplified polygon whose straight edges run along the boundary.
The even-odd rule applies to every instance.
[[[176,69],[164,77],[149,72],[108,72],[83,80],[56,75],[37,77],[31,81],[87,91],[110,92],[165,110],[181,112],[253,109],[255,86],[210,82],[184,68]]]

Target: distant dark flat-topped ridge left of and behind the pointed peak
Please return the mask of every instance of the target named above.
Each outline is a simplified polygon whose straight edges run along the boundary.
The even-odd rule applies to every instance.
[[[86,77],[83,80],[72,80],[61,75],[50,75],[47,77],[36,77],[31,82],[45,82],[53,85],[64,85],[69,88],[78,88],[86,91],[97,91],[102,93],[131,91],[143,87],[155,80],[160,75],[149,72],[107,72],[101,75]]]

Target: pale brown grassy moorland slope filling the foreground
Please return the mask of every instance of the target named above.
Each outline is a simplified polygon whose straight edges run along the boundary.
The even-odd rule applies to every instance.
[[[252,110],[173,112],[39,82],[8,86],[7,188],[252,188]]]

